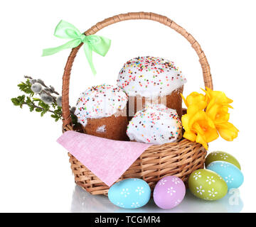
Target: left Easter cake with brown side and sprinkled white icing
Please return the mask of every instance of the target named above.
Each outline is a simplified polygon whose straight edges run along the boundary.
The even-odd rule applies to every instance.
[[[78,99],[75,116],[84,133],[112,140],[128,140],[127,95],[119,87],[98,85],[85,90]]]

